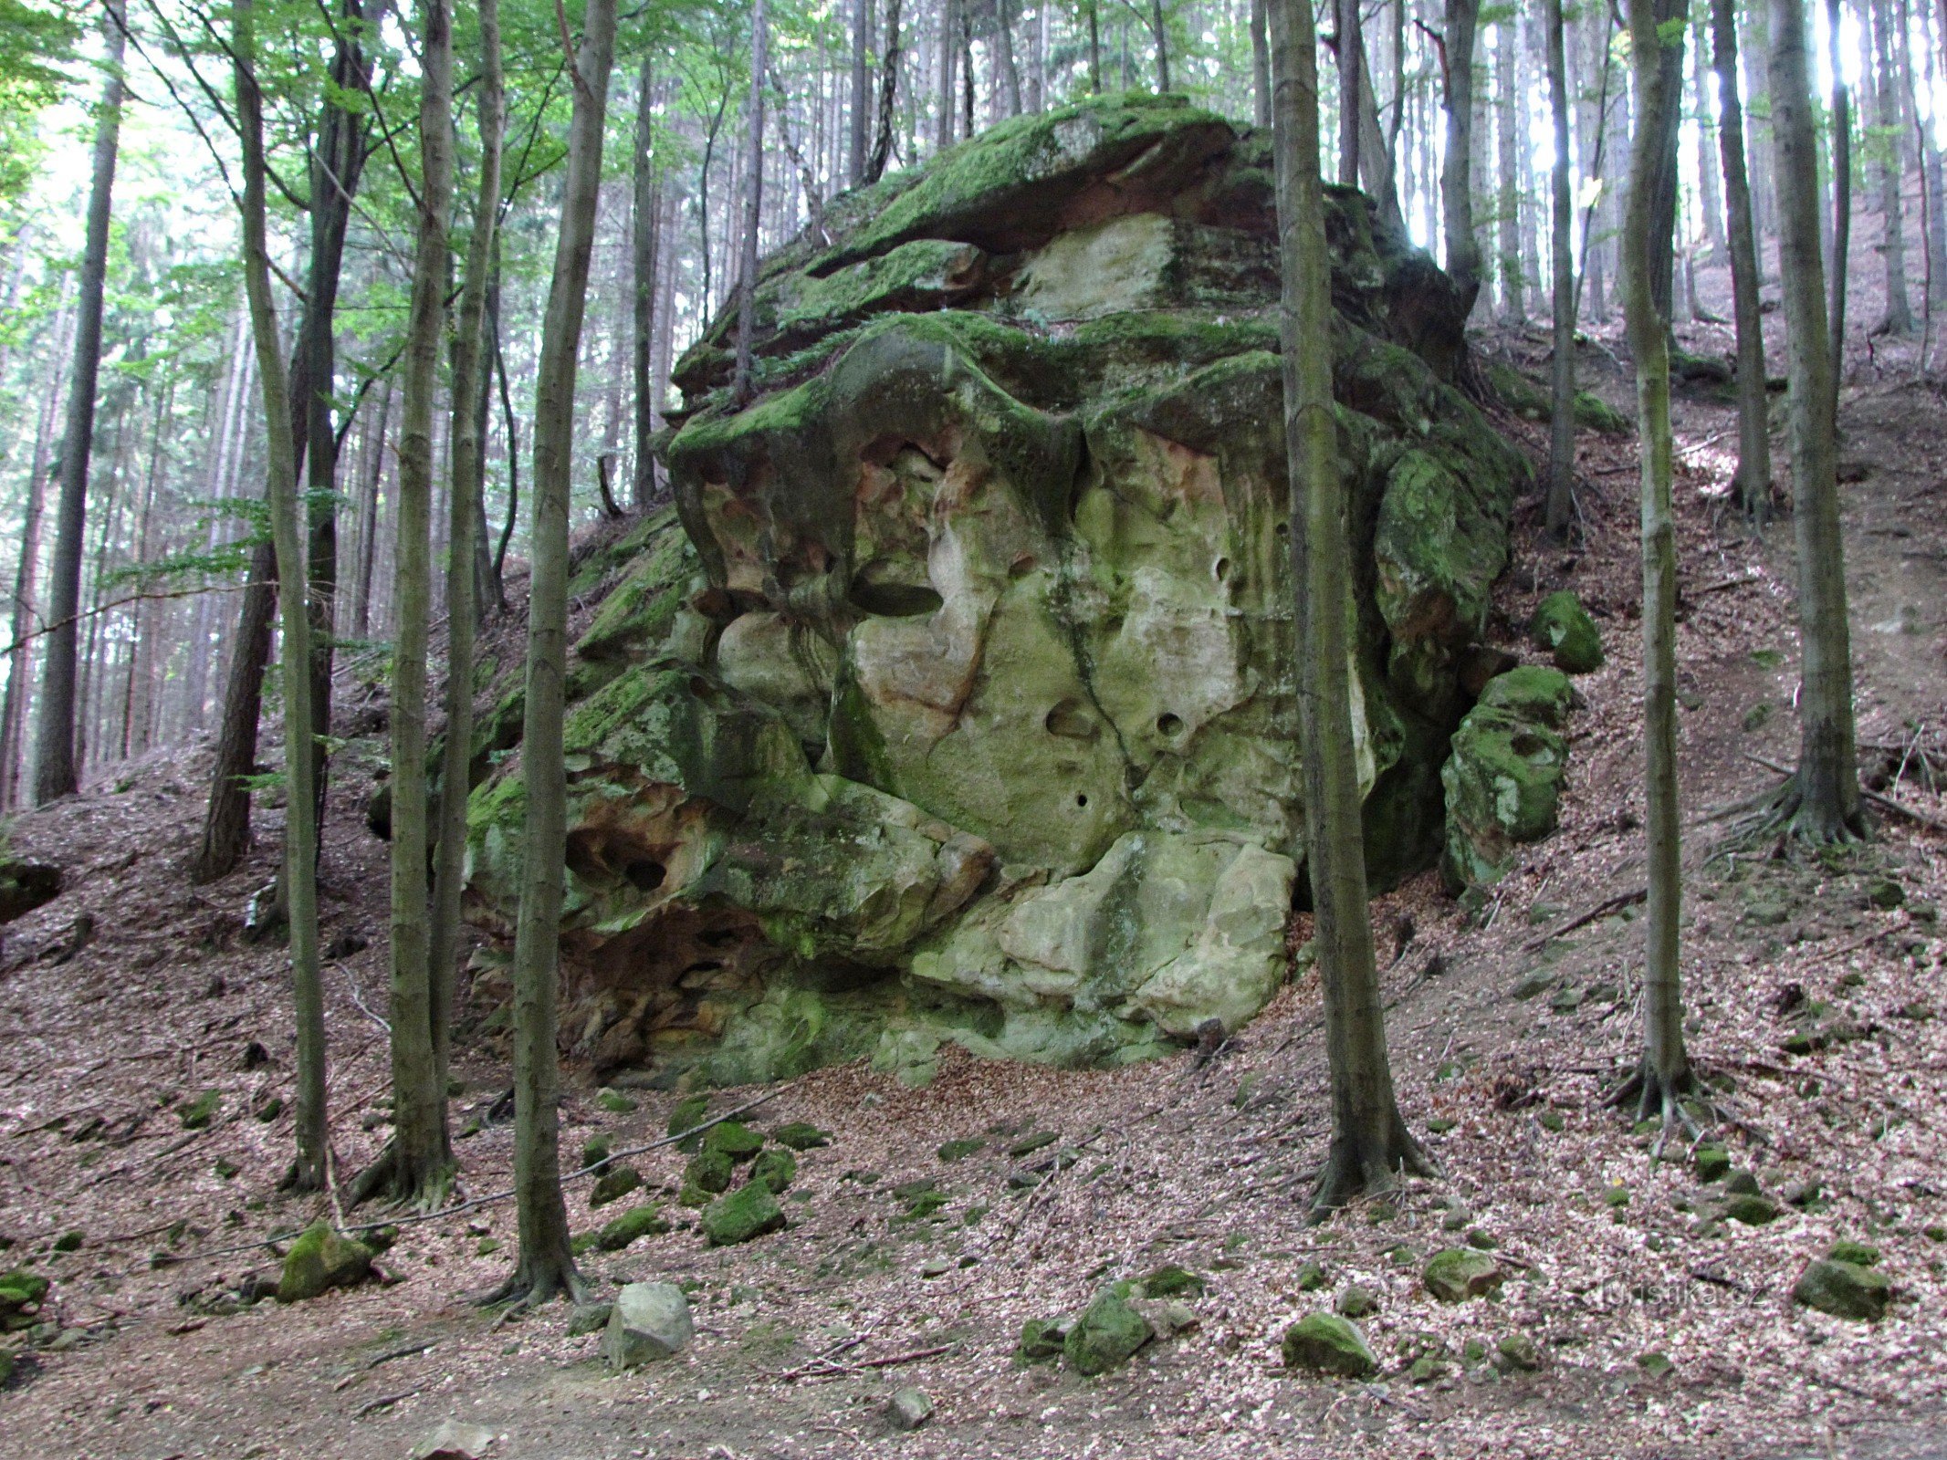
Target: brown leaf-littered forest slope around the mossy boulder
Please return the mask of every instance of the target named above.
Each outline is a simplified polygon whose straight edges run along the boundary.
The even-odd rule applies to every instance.
[[[1729,347],[1719,327],[1680,333],[1700,352]],[[1489,343],[1530,366],[1546,350],[1540,331]],[[1583,370],[1630,405],[1616,352],[1597,329]],[[1912,347],[1855,362],[1846,549],[1859,738],[1885,748],[1873,781],[1943,818],[1947,796],[1916,767],[1947,751],[1947,403],[1912,374]],[[1540,448],[1540,428],[1509,430]],[[1780,1199],[1778,1221],[1713,1221],[1721,1187],[1700,1186],[1680,1149],[1655,1160],[1632,1113],[1604,1106],[1641,1041],[1641,925],[1624,897],[1641,886],[1635,454],[1632,438],[1585,436],[1585,541],[1540,545],[1526,504],[1499,590],[1497,637],[1519,652],[1532,656],[1521,629],[1558,586],[1604,631],[1608,666],[1579,681],[1561,829],[1482,919],[1433,874],[1375,905],[1400,1100],[1431,1133],[1439,1180],[1306,1226],[1330,1125],[1308,973],[1201,1065],[958,1057],[919,1090],[864,1067],[785,1086],[753,1119],[831,1133],[800,1160],[789,1230],[709,1250],[680,1226],[586,1259],[602,1296],[635,1279],[695,1285],[695,1341],[625,1376],[604,1370],[594,1335],[569,1335],[565,1304],[514,1324],[469,1304],[506,1269],[504,1203],[405,1226],[384,1285],[226,1312],[251,1275],[275,1281],[263,1238],[329,1207],[276,1193],[288,1113],[251,1113],[290,1077],[280,954],[239,936],[271,858],[259,849],[226,882],[189,888],[206,757],[152,757],[12,831],[18,851],[68,868],[56,901],[6,929],[0,962],[0,1234],[10,1259],[31,1254],[55,1279],[60,1337],[0,1394],[0,1452],[376,1460],[458,1417],[496,1433],[493,1456],[547,1460],[1947,1456],[1947,944],[1931,917],[1947,837],[1875,812],[1857,849],[1708,855],[1723,835],[1708,814],[1772,785],[1754,757],[1795,759],[1791,528],[1752,533],[1723,500],[1729,407],[1686,391],[1676,430],[1690,1049],[1719,1086],[1717,1137]],[[384,851],[360,820],[354,753],[343,771],[323,857],[341,1174],[376,1150],[387,1088],[368,1012],[384,1008]],[[275,818],[261,820],[267,845]],[[1898,907],[1867,895],[1887,878]],[[62,960],[80,917],[93,938]],[[1785,1049],[1815,1030],[1840,1038]],[[251,1041],[271,1061],[245,1071]],[[498,1055],[467,1045],[458,1073],[458,1123],[481,1121],[459,1143],[463,1191],[504,1189],[512,1129],[487,1119],[506,1088]],[[202,1090],[220,1092],[218,1113],[187,1131],[179,1112]],[[643,1092],[607,1113],[569,1071],[563,1149],[596,1131],[660,1137],[670,1100]],[[1014,1191],[1007,1149],[1038,1131],[1081,1160]],[[946,1164],[935,1147],[952,1137],[987,1147]],[[681,1162],[674,1149],[637,1160],[670,1189]],[[894,1187],[927,1180],[946,1205],[905,1221]],[[613,1211],[590,1213],[586,1184],[569,1199],[576,1230]],[[1509,1279],[1493,1302],[1437,1304],[1421,1261],[1468,1228],[1499,1244]],[[78,1250],[53,1250],[64,1232]],[[1885,1254],[1896,1300],[1875,1326],[1789,1300],[1840,1238]],[[1308,1259],[1322,1293],[1299,1291]],[[1012,1359],[1024,1320],[1164,1261],[1207,1279],[1192,1332],[1100,1380]],[[1349,1283],[1377,1295],[1365,1330],[1382,1382],[1287,1374],[1285,1326]],[[1536,1370],[1460,1361],[1470,1339],[1493,1351],[1517,1332],[1538,1345]],[[847,1339],[849,1369],[790,1378]],[[1445,1361],[1414,1384],[1402,1351]],[[905,1361],[863,1367],[880,1359]],[[882,1405],[907,1384],[938,1409],[896,1435]]]

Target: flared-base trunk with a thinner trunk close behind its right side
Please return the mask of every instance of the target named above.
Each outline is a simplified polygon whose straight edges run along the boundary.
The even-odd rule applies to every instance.
[[[432,977],[426,954],[426,640],[432,563],[432,397],[446,337],[446,218],[454,197],[454,37],[446,0],[419,6],[419,247],[399,411],[399,500],[393,512],[391,654],[391,1145],[358,1193],[444,1199],[452,1147],[446,1088],[434,1084]],[[461,407],[463,411],[467,407]],[[471,561],[465,565],[471,582]],[[471,615],[469,625],[471,625]]]

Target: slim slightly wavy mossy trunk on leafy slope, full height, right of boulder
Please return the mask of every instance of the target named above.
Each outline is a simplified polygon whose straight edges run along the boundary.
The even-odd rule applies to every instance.
[[[1682,0],[1676,16],[1682,16]],[[1690,1088],[1678,967],[1682,917],[1682,821],[1676,802],[1676,518],[1671,508],[1669,317],[1655,300],[1659,228],[1657,177],[1667,162],[1667,115],[1680,101],[1682,70],[1671,86],[1671,43],[1659,25],[1672,16],[1659,0],[1630,4],[1630,64],[1635,70],[1635,134],[1622,226],[1622,306],[1635,356],[1637,442],[1643,489],[1643,759],[1649,843],[1649,934],[1643,946],[1643,1059],[1628,1090],[1639,1117],[1680,1119]],[[1682,45],[1680,33],[1674,45]]]

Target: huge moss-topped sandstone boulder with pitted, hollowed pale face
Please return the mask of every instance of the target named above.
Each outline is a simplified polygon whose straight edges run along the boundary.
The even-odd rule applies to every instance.
[[[1328,189],[1384,886],[1441,765],[1523,459],[1447,276]],[[1303,802],[1269,136],[1174,99],[1005,123],[833,201],[680,362],[676,506],[576,646],[563,1040],[732,1084],[870,1055],[1121,1063],[1285,975]],[[471,806],[510,936],[518,759]]]

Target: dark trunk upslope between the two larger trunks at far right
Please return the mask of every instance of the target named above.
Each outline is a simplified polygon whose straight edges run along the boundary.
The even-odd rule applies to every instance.
[[[1737,14],[1711,0],[1711,64],[1717,70],[1717,154],[1723,160],[1731,313],[1737,319],[1737,477],[1731,489],[1754,520],[1772,500],[1772,422],[1766,395],[1764,315],[1758,311],[1758,241],[1745,169],[1745,105],[1739,101]]]

